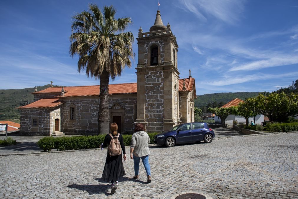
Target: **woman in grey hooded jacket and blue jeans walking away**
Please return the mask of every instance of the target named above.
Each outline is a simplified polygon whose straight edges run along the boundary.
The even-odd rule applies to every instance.
[[[140,158],[145,166],[147,173],[147,182],[151,182],[151,172],[149,164],[149,146],[150,138],[144,131],[141,123],[136,123],[134,127],[135,133],[131,138],[131,159],[134,159],[134,179],[139,179]]]

